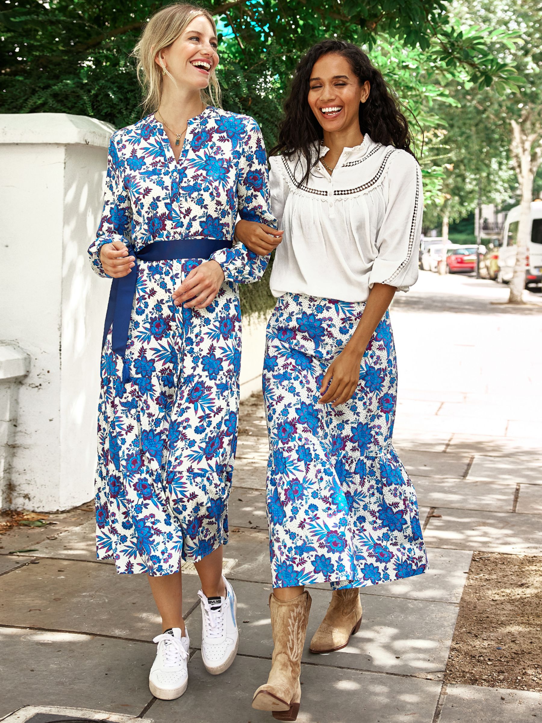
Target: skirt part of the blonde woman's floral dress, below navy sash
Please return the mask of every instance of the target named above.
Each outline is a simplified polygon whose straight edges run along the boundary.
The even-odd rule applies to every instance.
[[[96,547],[119,573],[176,573],[228,542],[241,312],[225,282],[205,309],[171,295],[200,260],[139,262],[126,361],[102,354]]]

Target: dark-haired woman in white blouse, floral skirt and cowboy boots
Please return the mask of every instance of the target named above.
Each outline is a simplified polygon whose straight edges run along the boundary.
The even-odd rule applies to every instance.
[[[271,289],[264,397],[275,649],[253,706],[295,720],[311,606],[332,600],[311,651],[348,644],[359,588],[427,568],[416,493],[392,447],[397,371],[387,309],[418,274],[421,173],[405,117],[356,46],[327,40],[298,64],[271,158],[284,236]],[[241,221],[252,250],[275,242]],[[267,240],[266,240],[267,239]]]

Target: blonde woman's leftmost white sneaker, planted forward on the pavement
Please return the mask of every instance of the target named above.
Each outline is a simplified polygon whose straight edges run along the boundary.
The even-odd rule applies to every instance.
[[[155,698],[173,701],[180,698],[188,685],[188,630],[183,638],[181,628],[171,628],[153,638],[158,643],[155,662],[149,673],[149,688]]]

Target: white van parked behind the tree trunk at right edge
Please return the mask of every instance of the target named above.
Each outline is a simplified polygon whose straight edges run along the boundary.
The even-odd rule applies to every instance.
[[[527,268],[525,286],[542,284],[542,200],[533,201],[530,205],[530,218],[533,230],[527,249]],[[499,247],[499,270],[497,281],[508,283],[512,280],[516,262],[517,228],[520,226],[520,206],[509,210],[502,232],[502,245]]]

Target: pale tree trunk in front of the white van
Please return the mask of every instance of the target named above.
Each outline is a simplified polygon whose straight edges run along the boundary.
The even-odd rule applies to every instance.
[[[525,263],[530,242],[532,221],[530,204],[533,200],[533,181],[540,164],[541,145],[540,130],[530,130],[530,118],[522,119],[521,123],[512,123],[512,158],[520,186],[520,223],[517,229],[516,262],[512,281],[510,281],[509,304],[522,304],[525,288]],[[533,148],[534,153],[533,153]]]

